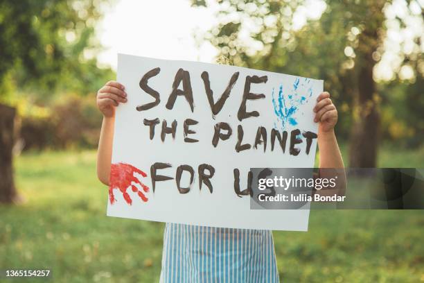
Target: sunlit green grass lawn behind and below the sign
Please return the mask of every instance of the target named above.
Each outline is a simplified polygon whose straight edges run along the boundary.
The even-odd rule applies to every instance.
[[[0,269],[49,268],[53,282],[159,280],[164,224],[106,217],[95,159],[94,151],[17,158],[26,203],[0,207]],[[424,148],[386,149],[379,164],[423,160]],[[312,211],[309,232],[274,232],[281,280],[424,282],[423,231],[423,211]]]

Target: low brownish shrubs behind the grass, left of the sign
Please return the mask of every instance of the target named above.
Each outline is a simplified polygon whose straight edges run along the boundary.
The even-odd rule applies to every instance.
[[[25,102],[25,101],[24,101]],[[98,144],[102,115],[95,96],[68,95],[48,108],[18,103],[24,149],[90,147]]]

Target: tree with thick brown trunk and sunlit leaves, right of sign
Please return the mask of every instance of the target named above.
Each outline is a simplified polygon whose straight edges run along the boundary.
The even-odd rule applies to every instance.
[[[328,0],[313,5],[312,1],[300,0],[219,2],[220,24],[206,34],[206,40],[218,48],[220,55],[235,65],[323,78],[324,88],[330,89],[333,100],[341,106],[337,133],[351,137],[350,166],[376,166],[379,107],[385,97],[374,71],[385,53],[385,10],[391,1]],[[192,4],[207,6],[208,2],[193,0]],[[418,1],[405,1],[405,6],[403,18],[395,19],[399,26],[405,26],[408,17],[417,14],[417,7],[415,16],[422,17]],[[322,13],[314,15],[314,9],[321,7]],[[297,21],[302,16],[306,21],[299,26]],[[405,60],[393,70],[396,76],[404,64],[409,64],[414,66],[414,76],[422,78],[420,37],[412,40],[418,46],[414,51],[407,55],[399,51]]]

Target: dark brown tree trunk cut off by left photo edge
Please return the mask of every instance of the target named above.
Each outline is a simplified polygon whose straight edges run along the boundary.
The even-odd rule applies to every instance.
[[[0,104],[0,203],[13,203],[18,197],[12,167],[15,112]]]

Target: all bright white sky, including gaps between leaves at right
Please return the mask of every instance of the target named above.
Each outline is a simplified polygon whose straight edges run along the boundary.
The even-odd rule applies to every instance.
[[[420,0],[418,2],[422,2]],[[208,8],[191,7],[189,0],[116,0],[103,7],[105,16],[97,26],[96,34],[104,51],[97,55],[103,65],[110,65],[116,69],[116,54],[127,53],[152,58],[193,60],[214,62],[218,51],[209,42],[195,40],[195,35],[201,38],[206,31],[216,24],[218,19],[215,12],[218,4],[208,1]],[[420,5],[423,5],[421,3]],[[294,28],[301,28],[306,20],[318,19],[324,12],[324,1],[306,0],[305,7],[297,10],[293,15]],[[412,52],[413,44],[399,44],[412,42],[415,35],[424,34],[421,7],[409,7],[415,10],[417,17],[409,17],[409,28],[399,30],[395,17],[405,17],[407,6],[403,0],[394,0],[392,6],[385,10],[387,39],[385,42],[389,52],[382,55],[375,71],[378,79],[389,80],[393,76],[392,69],[396,69],[403,61],[398,53],[400,49]],[[242,36],[243,33],[240,33]],[[247,44],[251,40],[246,35]],[[254,42],[251,43],[254,46]],[[346,56],[353,53],[353,49],[345,49]],[[408,77],[412,69],[401,70],[403,76]]]

